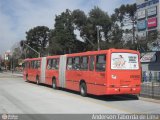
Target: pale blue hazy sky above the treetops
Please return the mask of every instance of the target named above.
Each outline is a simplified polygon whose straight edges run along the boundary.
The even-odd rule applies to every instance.
[[[135,0],[0,0],[0,54],[25,40],[26,31],[33,27],[53,29],[55,15],[66,9],[81,9],[87,14],[98,6],[111,15],[115,8],[132,3]]]

